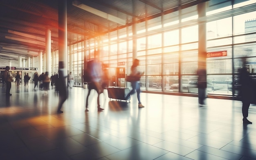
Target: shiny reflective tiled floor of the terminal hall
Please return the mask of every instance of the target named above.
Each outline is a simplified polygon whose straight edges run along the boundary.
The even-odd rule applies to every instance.
[[[146,106],[73,87],[56,114],[58,92],[46,94],[12,83],[10,97],[0,86],[0,160],[256,160],[256,106],[252,125],[243,125],[241,102],[141,93]],[[105,97],[105,99],[104,99]]]

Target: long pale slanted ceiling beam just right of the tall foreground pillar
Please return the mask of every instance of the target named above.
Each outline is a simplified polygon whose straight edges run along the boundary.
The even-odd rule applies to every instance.
[[[114,15],[110,15],[110,14],[105,13],[103,11],[99,11],[98,9],[94,9],[92,7],[89,7],[89,6],[85,5],[85,4],[81,4],[78,1],[73,1],[72,5],[75,6],[75,7],[80,8],[80,9],[83,9],[85,11],[88,11],[90,13],[93,13],[95,15],[98,15],[98,16],[100,16],[102,18],[105,18],[107,20],[110,20],[112,22],[115,22],[115,23],[118,23],[118,24],[121,24],[121,25],[126,25],[126,20],[118,18],[118,17],[116,17]]]

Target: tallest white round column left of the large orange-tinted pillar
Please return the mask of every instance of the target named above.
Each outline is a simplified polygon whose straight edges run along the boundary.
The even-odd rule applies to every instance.
[[[51,76],[51,31],[47,29],[45,35],[45,72]]]

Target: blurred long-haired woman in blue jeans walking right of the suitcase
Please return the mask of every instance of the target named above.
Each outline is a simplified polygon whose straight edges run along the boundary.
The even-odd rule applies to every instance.
[[[135,91],[137,92],[137,99],[139,101],[139,105],[138,107],[145,107],[144,105],[141,104],[140,101],[140,82],[139,79],[141,78],[141,76],[144,75],[144,72],[139,72],[138,67],[139,66],[139,59],[134,59],[132,66],[131,66],[131,74],[130,77],[133,77],[132,79],[134,79],[134,81],[131,81],[132,83],[132,90],[127,94],[127,97],[129,97],[130,95],[134,94]]]

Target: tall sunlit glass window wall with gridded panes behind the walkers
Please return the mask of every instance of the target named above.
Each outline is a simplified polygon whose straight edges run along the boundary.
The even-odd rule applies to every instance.
[[[235,5],[232,6],[231,0],[223,3],[209,1],[207,3],[211,5],[208,5],[210,7],[207,7],[206,15],[208,18],[215,14],[225,14],[225,11],[251,2],[233,1]],[[207,58],[208,94],[236,96],[237,92],[233,93],[232,87],[237,81],[238,69],[244,65],[250,74],[256,73],[255,14],[256,11],[252,11],[207,20],[207,53],[227,53]],[[86,46],[74,44],[73,72],[77,77],[77,85],[82,83],[79,76],[83,73],[83,53],[86,53],[88,60],[93,59],[96,56],[95,50],[100,47],[102,62],[110,68],[119,67],[118,62],[125,62],[127,74],[130,74],[132,56],[136,55],[140,60],[139,69],[145,71],[141,77],[142,90],[197,93],[197,19],[197,6],[193,6],[133,24],[137,28],[136,35],[132,35],[133,27],[127,26],[106,33],[100,38],[101,43],[92,38],[87,40]],[[126,86],[129,87],[130,83]]]

